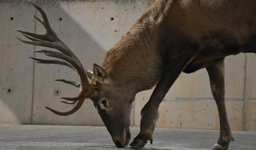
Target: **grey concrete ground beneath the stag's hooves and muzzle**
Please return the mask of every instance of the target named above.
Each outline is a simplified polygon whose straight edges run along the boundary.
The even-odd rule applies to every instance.
[[[132,138],[139,128],[131,128]],[[256,150],[256,132],[233,132],[229,150]],[[209,150],[216,130],[156,128],[144,150]],[[0,125],[0,150],[128,150],[116,148],[105,127]]]

